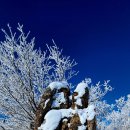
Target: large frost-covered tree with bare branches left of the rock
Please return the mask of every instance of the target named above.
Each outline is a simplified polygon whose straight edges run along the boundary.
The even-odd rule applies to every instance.
[[[29,41],[23,26],[17,33],[2,30],[5,40],[0,43],[0,120],[1,128],[30,129],[44,88],[52,81],[69,80],[77,74],[77,65],[62,55],[56,44],[47,51],[34,48],[35,38]]]

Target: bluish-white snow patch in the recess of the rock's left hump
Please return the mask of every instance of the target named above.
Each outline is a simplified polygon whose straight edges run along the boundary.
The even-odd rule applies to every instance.
[[[61,93],[56,93],[56,94],[54,95],[54,98],[55,98],[55,100],[54,100],[53,103],[52,103],[52,106],[51,106],[52,108],[59,107],[60,104],[66,102],[63,92],[61,92]]]

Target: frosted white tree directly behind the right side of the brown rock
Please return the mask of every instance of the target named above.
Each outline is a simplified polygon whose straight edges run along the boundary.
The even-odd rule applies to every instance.
[[[104,96],[113,90],[109,85],[110,81],[104,81],[104,83],[99,81],[96,85],[93,85],[91,79],[87,78],[83,82],[88,84],[89,104],[94,104],[96,109],[97,129],[105,130],[105,117],[113,110],[113,105],[107,104],[104,99]]]

